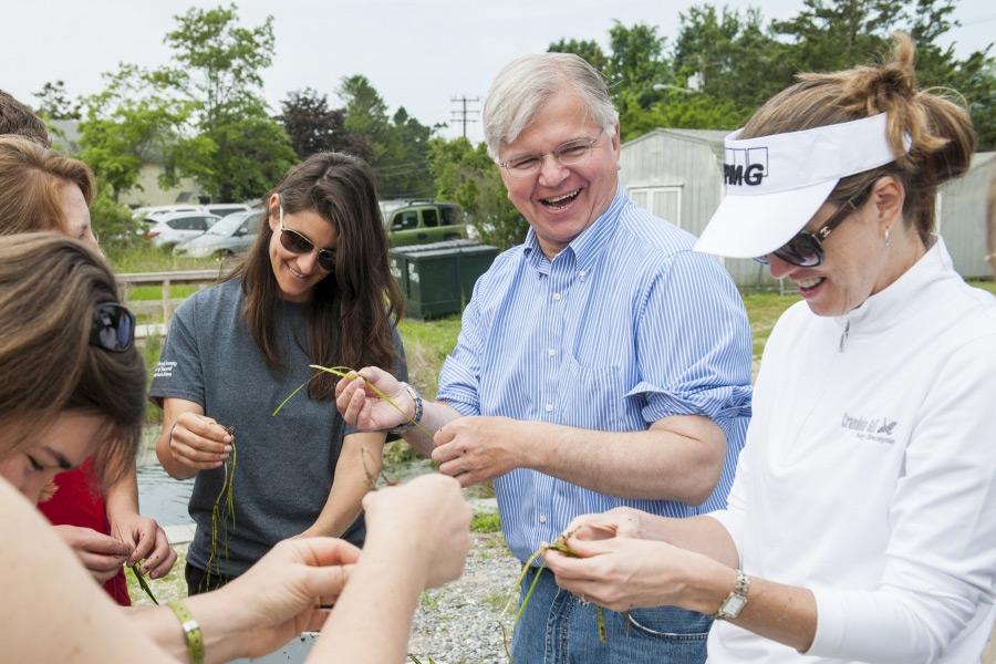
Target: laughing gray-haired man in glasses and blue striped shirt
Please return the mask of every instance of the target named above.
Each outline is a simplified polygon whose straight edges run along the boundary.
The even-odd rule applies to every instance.
[[[523,562],[581,513],[723,507],[750,414],[750,330],[728,273],[625,195],[619,116],[582,59],[544,53],[507,65],[484,126],[529,221],[526,241],[475,286],[436,402],[376,369],[360,372],[434,438],[362,381],[339,386],[346,421],[394,427],[464,486],[494,480],[506,541]],[[705,661],[702,614],[605,611],[604,643],[596,620],[542,572],[512,656]]]

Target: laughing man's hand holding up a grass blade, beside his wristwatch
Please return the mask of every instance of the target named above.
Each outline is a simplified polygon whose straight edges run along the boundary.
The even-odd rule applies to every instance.
[[[394,402],[397,408],[367,387],[367,383]],[[340,380],[335,385],[335,406],[342,418],[361,432],[388,429],[407,422],[405,415],[415,415],[415,402],[408,391],[392,374],[376,366],[365,366]]]

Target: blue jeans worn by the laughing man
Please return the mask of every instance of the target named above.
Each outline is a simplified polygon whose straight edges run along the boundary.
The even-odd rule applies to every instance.
[[[536,569],[522,581],[519,605]],[[625,614],[602,610],[605,643],[599,639],[598,609],[540,573],[529,604],[512,634],[516,664],[703,664],[713,621],[676,606],[634,609]]]

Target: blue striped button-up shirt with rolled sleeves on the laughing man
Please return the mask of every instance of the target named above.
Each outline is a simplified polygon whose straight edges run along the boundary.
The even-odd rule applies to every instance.
[[[497,478],[520,560],[585,512],[627,505],[684,517],[726,505],[750,415],[750,328],[729,274],[694,242],[620,187],[553,260],[530,230],[477,281],[437,398],[465,415],[612,432],[706,415],[727,438],[723,476],[699,507],[614,498],[525,468]]]

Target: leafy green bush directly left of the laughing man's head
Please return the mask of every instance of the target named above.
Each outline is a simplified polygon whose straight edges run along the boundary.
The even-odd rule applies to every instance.
[[[484,143],[475,147],[463,137],[434,138],[429,153],[436,197],[458,203],[484,242],[505,250],[526,239],[529,224],[509,201],[498,166]]]

